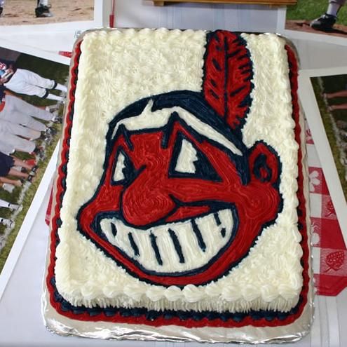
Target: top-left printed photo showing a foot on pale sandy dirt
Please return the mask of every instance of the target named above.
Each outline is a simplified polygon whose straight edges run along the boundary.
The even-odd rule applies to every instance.
[[[0,25],[93,20],[94,0],[0,0]]]

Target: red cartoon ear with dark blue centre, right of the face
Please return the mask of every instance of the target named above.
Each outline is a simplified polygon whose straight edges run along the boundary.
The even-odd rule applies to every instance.
[[[251,181],[257,179],[271,184],[278,182],[280,158],[276,151],[264,142],[257,142],[250,149],[249,164]]]

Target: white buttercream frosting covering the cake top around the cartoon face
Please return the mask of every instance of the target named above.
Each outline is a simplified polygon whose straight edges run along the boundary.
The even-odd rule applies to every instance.
[[[264,140],[278,152],[283,211],[264,229],[250,254],[227,275],[181,290],[132,277],[77,231],[76,215],[100,183],[109,121],[143,97],[172,90],[201,90],[206,33],[128,29],[91,32],[83,37],[55,266],[57,290],[72,304],[220,312],[289,311],[297,304],[302,286],[298,144],[285,41],[274,34],[243,34],[243,38],[254,72],[243,142],[250,148]],[[231,150],[238,151],[236,147]],[[120,169],[115,175],[121,178],[123,172]]]

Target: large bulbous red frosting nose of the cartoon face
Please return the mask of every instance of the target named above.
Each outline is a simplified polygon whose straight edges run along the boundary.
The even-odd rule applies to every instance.
[[[125,221],[134,226],[154,224],[175,209],[161,182],[133,182],[123,193],[122,212]]]

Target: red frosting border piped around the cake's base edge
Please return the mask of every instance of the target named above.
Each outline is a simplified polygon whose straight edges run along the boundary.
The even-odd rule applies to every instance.
[[[55,292],[55,286],[53,285],[51,279],[54,278],[54,268],[55,268],[55,250],[56,245],[59,242],[58,236],[57,236],[57,229],[58,229],[58,220],[60,220],[60,206],[62,203],[62,198],[64,196],[64,188],[62,185],[62,181],[66,177],[66,173],[63,170],[64,165],[67,164],[68,161],[68,154],[69,154],[69,139],[71,135],[71,129],[72,129],[72,122],[73,122],[73,112],[74,112],[74,94],[76,91],[76,81],[77,81],[77,75],[78,75],[78,66],[79,66],[79,58],[81,56],[81,42],[79,42],[76,47],[74,48],[74,60],[71,68],[71,87],[69,90],[69,104],[67,107],[67,115],[65,120],[65,128],[64,128],[64,135],[62,140],[62,151],[60,155],[60,165],[58,168],[58,176],[57,176],[57,189],[55,193],[55,209],[54,209],[54,215],[52,219],[52,225],[50,230],[50,264],[48,266],[48,274],[46,277],[46,285],[48,287],[49,292],[49,299],[50,299],[50,305],[55,308],[57,313],[60,313],[60,315],[64,315],[67,318],[72,318],[74,320],[83,320],[83,321],[105,321],[105,322],[117,322],[117,323],[128,323],[128,324],[144,324],[144,325],[151,325],[151,326],[161,326],[161,325],[177,325],[177,326],[184,326],[184,327],[243,327],[245,325],[252,325],[254,327],[277,327],[277,326],[283,326],[283,325],[289,325],[290,323],[294,322],[299,318],[302,311],[304,310],[304,307],[307,304],[307,294],[308,294],[308,287],[309,287],[309,274],[308,274],[308,268],[309,268],[309,247],[308,247],[308,231],[306,226],[306,199],[304,196],[304,174],[303,174],[303,164],[302,164],[302,158],[303,154],[301,151],[301,126],[299,124],[299,102],[298,102],[298,95],[297,95],[297,75],[298,75],[298,64],[295,57],[295,54],[290,48],[290,46],[285,46],[285,49],[287,50],[288,55],[288,62],[290,64],[290,83],[292,87],[292,105],[293,105],[293,118],[296,123],[295,126],[295,140],[300,144],[299,151],[298,151],[298,167],[299,167],[299,176],[297,178],[298,181],[298,191],[297,191],[297,197],[299,199],[299,206],[298,210],[300,210],[301,213],[299,213],[299,231],[301,233],[302,239],[301,239],[301,247],[303,250],[303,256],[301,258],[301,262],[303,264],[304,270],[303,270],[303,287],[301,290],[301,301],[299,302],[299,308],[297,310],[297,313],[294,313],[292,315],[289,315],[287,318],[280,320],[279,318],[274,318],[271,321],[266,320],[266,318],[261,318],[259,320],[254,320],[250,316],[247,316],[240,322],[236,322],[235,320],[222,320],[222,319],[215,319],[215,320],[208,320],[207,318],[203,318],[202,320],[196,321],[193,320],[193,318],[189,318],[186,320],[180,320],[178,317],[174,318],[157,318],[156,320],[148,320],[145,315],[141,315],[138,317],[123,317],[120,313],[116,313],[116,315],[113,315],[111,317],[105,315],[104,313],[100,313],[97,315],[90,316],[88,313],[79,313],[74,314],[73,312],[64,311],[62,310],[62,307],[59,302],[55,301],[54,299],[54,292]]]

